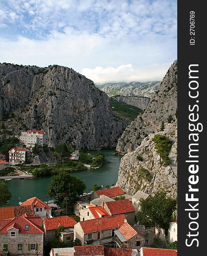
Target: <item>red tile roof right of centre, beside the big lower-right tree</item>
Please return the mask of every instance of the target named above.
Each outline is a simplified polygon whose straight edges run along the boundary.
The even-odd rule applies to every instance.
[[[130,203],[129,199],[105,202],[111,215],[122,214],[125,212],[135,212],[134,207]]]

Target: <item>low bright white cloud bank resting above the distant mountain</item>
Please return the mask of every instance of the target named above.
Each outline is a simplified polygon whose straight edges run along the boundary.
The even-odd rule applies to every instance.
[[[84,68],[82,74],[96,84],[107,82],[161,81],[169,64],[154,64],[147,67],[132,67],[132,64],[119,67]]]

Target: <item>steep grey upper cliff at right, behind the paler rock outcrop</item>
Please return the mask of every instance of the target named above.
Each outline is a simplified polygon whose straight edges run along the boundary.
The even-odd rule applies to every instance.
[[[158,132],[168,117],[176,119],[177,113],[177,61],[167,71],[159,89],[152,97],[145,112],[128,125],[118,140],[116,151],[125,154],[135,150],[148,134]]]

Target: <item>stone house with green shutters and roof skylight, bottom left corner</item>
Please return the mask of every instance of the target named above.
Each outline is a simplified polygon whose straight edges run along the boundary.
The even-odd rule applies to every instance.
[[[0,221],[1,254],[34,255],[34,250],[43,253],[44,231],[41,218],[19,217]]]

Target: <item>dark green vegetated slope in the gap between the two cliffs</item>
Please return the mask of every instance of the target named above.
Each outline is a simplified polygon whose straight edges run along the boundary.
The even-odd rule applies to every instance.
[[[127,123],[133,121],[139,113],[142,113],[142,109],[132,105],[128,105],[125,102],[118,102],[112,98],[109,98],[113,114]]]

